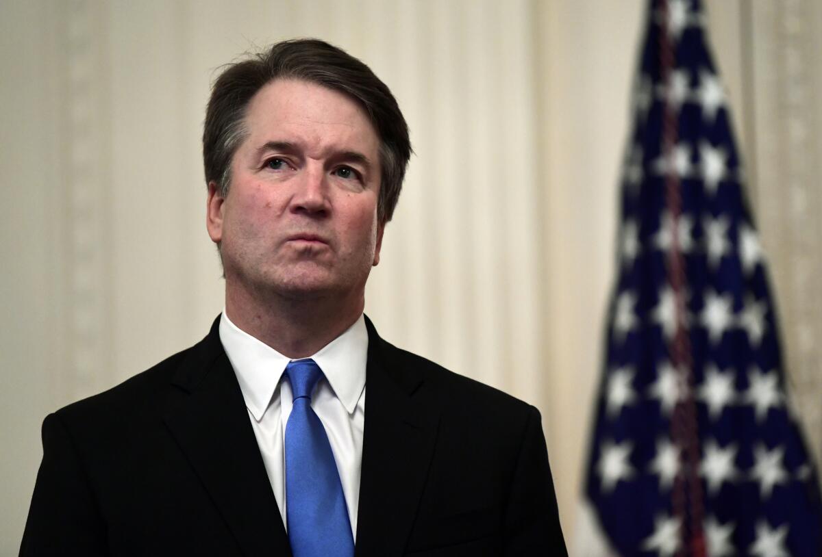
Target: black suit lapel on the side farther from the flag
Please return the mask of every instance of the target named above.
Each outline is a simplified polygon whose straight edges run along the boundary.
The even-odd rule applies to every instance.
[[[164,420],[246,555],[291,555],[219,318],[182,363]]]

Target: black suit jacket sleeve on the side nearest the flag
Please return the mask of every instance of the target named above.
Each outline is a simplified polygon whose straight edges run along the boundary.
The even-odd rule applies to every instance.
[[[539,411],[530,408],[506,509],[506,555],[568,555]]]

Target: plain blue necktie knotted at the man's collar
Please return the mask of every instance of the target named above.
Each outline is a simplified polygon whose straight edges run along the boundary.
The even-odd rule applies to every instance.
[[[294,405],[285,426],[285,500],[294,557],[353,557],[349,511],[326,429],[311,407],[322,377],[313,360],[285,368]]]

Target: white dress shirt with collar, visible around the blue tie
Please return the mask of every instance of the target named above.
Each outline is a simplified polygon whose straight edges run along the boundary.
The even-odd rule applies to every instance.
[[[283,372],[291,360],[239,329],[225,311],[219,320],[219,339],[237,374],[271,489],[288,528],[283,442],[293,397]],[[325,375],[316,385],[311,406],[326,428],[355,541],[363,463],[367,357],[368,332],[363,315],[311,357]]]

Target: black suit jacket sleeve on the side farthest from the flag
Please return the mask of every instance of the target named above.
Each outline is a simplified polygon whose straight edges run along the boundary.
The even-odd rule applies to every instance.
[[[71,435],[50,414],[20,555],[108,555],[105,545],[104,521]]]

